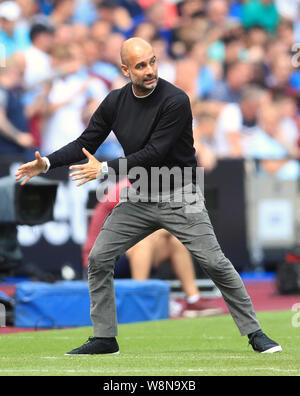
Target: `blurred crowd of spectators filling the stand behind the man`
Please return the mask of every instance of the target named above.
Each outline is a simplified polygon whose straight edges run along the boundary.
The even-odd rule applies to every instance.
[[[76,139],[128,82],[119,52],[132,36],[189,95],[199,166],[255,158],[299,176],[300,0],[0,2],[0,154],[30,159]],[[121,155],[113,132],[96,153]]]

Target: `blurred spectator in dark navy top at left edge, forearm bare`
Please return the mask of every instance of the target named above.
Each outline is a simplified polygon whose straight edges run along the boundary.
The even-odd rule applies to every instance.
[[[22,75],[17,63],[8,59],[0,68],[0,154],[25,154],[33,147],[22,103]],[[28,157],[27,157],[28,158]]]

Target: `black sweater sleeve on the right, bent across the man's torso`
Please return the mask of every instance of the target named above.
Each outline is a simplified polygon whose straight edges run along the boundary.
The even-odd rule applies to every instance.
[[[133,167],[161,166],[179,136],[184,132],[188,122],[191,120],[191,108],[187,95],[177,94],[165,103],[158,124],[151,134],[145,147],[129,154],[127,170]],[[108,166],[118,174],[120,158],[108,161]]]

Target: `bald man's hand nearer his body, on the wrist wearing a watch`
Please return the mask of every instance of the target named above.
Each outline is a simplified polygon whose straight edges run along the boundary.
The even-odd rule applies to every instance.
[[[101,171],[101,162],[99,162],[91,153],[89,153],[85,148],[82,149],[84,155],[89,160],[88,163],[82,165],[72,165],[69,169],[76,169],[75,172],[70,174],[73,181],[82,180],[77,184],[77,187],[83,184],[97,179],[97,176]]]

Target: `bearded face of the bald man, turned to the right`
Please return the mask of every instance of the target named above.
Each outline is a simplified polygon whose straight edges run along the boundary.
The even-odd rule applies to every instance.
[[[146,95],[152,91],[158,80],[157,59],[152,48],[129,56],[127,65],[122,65],[122,71],[130,78],[138,95]]]

